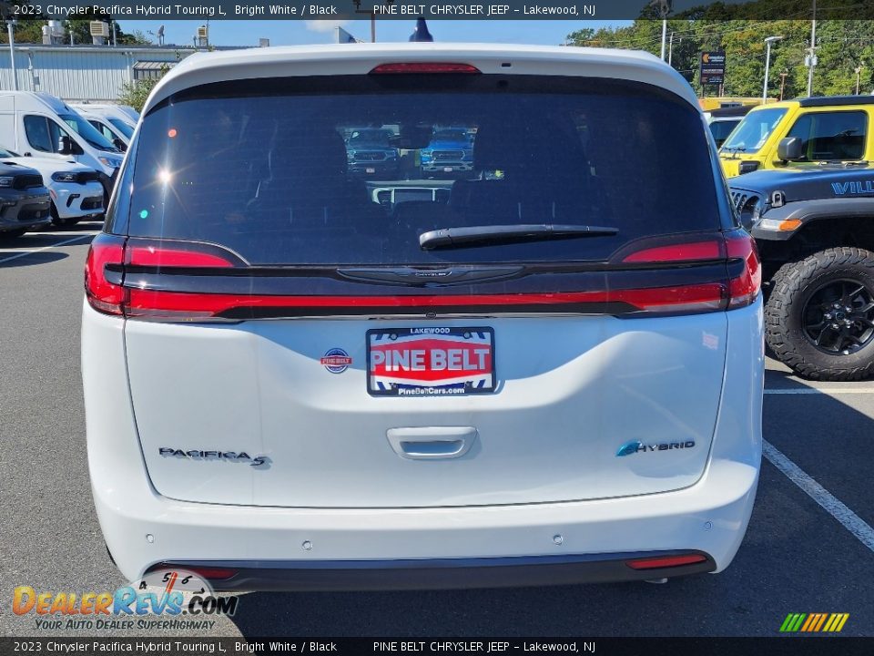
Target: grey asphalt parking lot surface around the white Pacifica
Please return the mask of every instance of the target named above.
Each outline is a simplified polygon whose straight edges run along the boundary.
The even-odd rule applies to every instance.
[[[33,614],[16,616],[15,586],[84,592],[126,583],[107,557],[86,469],[79,314],[87,244],[98,229],[84,223],[0,243],[5,636],[83,635],[36,630]],[[666,585],[251,593],[234,618],[219,617],[199,635],[776,636],[789,612],[844,612],[840,635],[870,636],[874,382],[813,384],[774,361],[767,367],[757,504],[737,559],[718,576]]]

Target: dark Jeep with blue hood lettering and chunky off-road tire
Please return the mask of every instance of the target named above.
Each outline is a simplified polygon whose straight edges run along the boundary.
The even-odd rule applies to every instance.
[[[874,374],[874,166],[765,170],[729,180],[767,284],[765,339],[798,374]]]

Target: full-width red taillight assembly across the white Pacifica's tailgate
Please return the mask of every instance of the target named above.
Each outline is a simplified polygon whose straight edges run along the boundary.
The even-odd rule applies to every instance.
[[[88,302],[102,313],[128,317],[150,317],[177,321],[202,321],[212,318],[239,320],[240,317],[308,316],[310,311],[326,313],[367,313],[374,309],[443,308],[472,311],[544,306],[569,312],[584,312],[593,304],[623,304],[619,313],[706,313],[734,309],[756,301],[762,273],[756,243],[746,231],[714,232],[696,240],[671,243],[664,238],[644,241],[636,249],[617,253],[614,263],[671,269],[672,282],[685,277],[686,266],[705,267],[710,273],[702,280],[690,276],[688,283],[659,287],[613,287],[588,292],[520,292],[482,294],[385,294],[351,295],[268,295],[254,292],[223,293],[167,291],[151,286],[148,276],[167,273],[190,276],[186,269],[247,267],[239,255],[214,244],[194,241],[126,239],[101,234],[92,242],[86,263]],[[108,268],[107,268],[108,267]],[[709,267],[709,268],[707,268]],[[620,268],[625,269],[625,266]],[[631,269],[632,267],[628,267]],[[176,271],[174,271],[176,270]],[[675,271],[676,270],[676,271]],[[209,272],[201,272],[206,276]],[[220,273],[220,272],[218,272]],[[677,275],[679,274],[679,275]],[[219,276],[219,279],[224,276]],[[638,274],[637,279],[640,279]],[[151,282],[148,282],[148,281]],[[166,280],[171,280],[170,278]],[[694,282],[693,282],[694,281]],[[122,286],[123,283],[126,286]],[[163,285],[162,285],[163,286]],[[621,305],[620,305],[621,308]],[[287,309],[289,313],[285,313]],[[603,312],[599,310],[598,312]]]

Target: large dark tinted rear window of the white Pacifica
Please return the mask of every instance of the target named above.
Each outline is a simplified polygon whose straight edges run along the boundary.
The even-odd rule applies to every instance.
[[[605,260],[638,238],[719,228],[706,128],[685,101],[638,83],[461,77],[281,78],[172,97],[140,129],[129,234],[214,242],[251,264],[436,264]],[[434,148],[450,141],[459,148]],[[427,231],[520,224],[615,234],[420,244]]]

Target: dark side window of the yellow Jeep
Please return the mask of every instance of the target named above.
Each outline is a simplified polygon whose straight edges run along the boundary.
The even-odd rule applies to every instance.
[[[811,112],[798,118],[787,136],[801,139],[808,161],[862,159],[867,132],[865,112]]]

